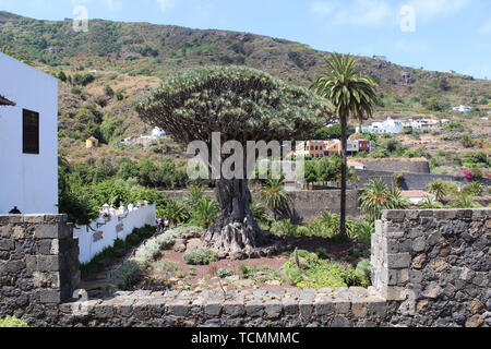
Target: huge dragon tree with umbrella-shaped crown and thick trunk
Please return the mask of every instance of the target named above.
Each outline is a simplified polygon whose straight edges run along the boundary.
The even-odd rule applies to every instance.
[[[237,141],[242,145],[244,158],[248,141],[301,140],[332,116],[331,105],[307,88],[244,67],[209,67],[176,74],[141,101],[136,111],[143,121],[184,145],[204,142],[209,154],[212,133],[219,132],[221,144]],[[204,237],[209,248],[230,255],[253,255],[271,244],[250,209],[248,179],[221,176],[216,180],[216,196],[220,216]]]

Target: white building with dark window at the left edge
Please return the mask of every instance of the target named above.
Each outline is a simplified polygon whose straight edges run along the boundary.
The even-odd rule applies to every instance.
[[[58,213],[58,80],[0,52],[0,214]]]

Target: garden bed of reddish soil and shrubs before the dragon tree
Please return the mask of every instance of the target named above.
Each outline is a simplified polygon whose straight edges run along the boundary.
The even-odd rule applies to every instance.
[[[112,273],[107,291],[116,290],[276,290],[368,286],[358,276],[358,263],[369,255],[354,241],[297,237],[284,238],[282,254],[258,258],[219,258],[201,242],[202,229],[181,227],[148,239]],[[100,277],[99,277],[100,281]],[[101,296],[104,285],[86,282],[89,294]]]

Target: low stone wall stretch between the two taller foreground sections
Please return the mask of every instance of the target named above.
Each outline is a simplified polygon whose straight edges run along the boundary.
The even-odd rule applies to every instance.
[[[374,288],[117,292],[113,298],[60,305],[59,324],[97,327],[373,327],[387,322]]]

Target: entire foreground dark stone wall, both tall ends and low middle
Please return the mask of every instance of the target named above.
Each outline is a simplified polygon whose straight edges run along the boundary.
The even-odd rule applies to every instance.
[[[368,289],[136,291],[105,300],[67,300],[77,249],[65,219],[0,216],[0,316],[34,326],[490,325],[491,209],[384,212]]]

